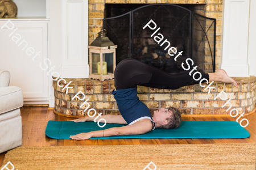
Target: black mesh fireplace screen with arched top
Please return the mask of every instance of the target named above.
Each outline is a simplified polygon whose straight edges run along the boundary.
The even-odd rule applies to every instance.
[[[151,28],[143,29],[150,21]],[[185,61],[191,58],[198,71],[215,72],[216,19],[181,6],[158,4],[105,18],[103,27],[109,39],[118,45],[117,64],[134,58],[167,73],[180,73],[184,71],[181,63],[187,68]]]

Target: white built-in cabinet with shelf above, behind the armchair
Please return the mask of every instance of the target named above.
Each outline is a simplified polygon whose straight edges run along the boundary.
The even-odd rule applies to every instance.
[[[10,71],[9,86],[22,88],[24,104],[49,104],[49,69],[40,69],[40,63],[46,68],[43,61],[49,58],[48,0],[14,2],[18,7],[18,16],[0,18],[0,28],[8,20],[11,23],[7,25],[13,28],[0,29],[0,69]]]

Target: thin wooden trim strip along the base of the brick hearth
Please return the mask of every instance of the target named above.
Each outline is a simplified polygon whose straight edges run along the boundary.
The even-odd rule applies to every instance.
[[[74,116],[74,115],[62,114],[62,113],[56,112],[55,109],[53,108],[48,108],[48,110],[53,110],[53,113],[56,114],[57,116],[71,117],[71,118],[85,117],[85,116]],[[255,112],[256,112],[256,105],[253,111],[245,113],[243,114],[243,116],[248,116]],[[181,114],[181,117],[229,117],[229,116],[230,116],[229,114]]]

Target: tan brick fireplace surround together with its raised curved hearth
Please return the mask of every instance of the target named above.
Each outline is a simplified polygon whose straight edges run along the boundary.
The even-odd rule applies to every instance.
[[[89,44],[96,39],[97,33],[102,27],[104,18],[105,3],[172,3],[172,4],[200,4],[205,5],[204,14],[209,18],[216,18],[216,70],[219,69],[221,61],[221,28],[222,28],[222,0],[89,0]],[[207,23],[208,26],[209,23]],[[205,71],[210,73],[212,65],[210,64],[209,50],[205,50]],[[209,63],[208,63],[209,61]],[[228,107],[222,108],[225,101],[214,100],[222,90],[228,94],[228,99],[232,99],[232,108],[237,108],[239,113],[251,112],[254,110],[256,94],[256,77],[235,78],[240,84],[239,88],[232,84],[214,82],[212,86],[216,87],[208,95],[199,84],[193,86],[181,87],[177,90],[164,90],[138,86],[138,97],[151,111],[160,107],[176,107],[182,114],[229,114],[226,112]],[[92,79],[65,79],[70,80],[73,89],[69,90],[68,95],[57,86],[57,80],[53,81],[55,89],[55,113],[69,116],[85,116],[84,109],[86,105],[80,108],[80,105],[89,98],[90,108],[96,109],[97,113],[120,114],[113,95],[114,79],[99,80]],[[205,83],[206,84],[206,83]],[[65,86],[65,84],[63,83]],[[80,101],[72,97],[78,91],[84,92],[86,99]],[[80,96],[82,97],[82,96]],[[227,100],[226,100],[227,101]],[[230,110],[229,110],[230,111]]]

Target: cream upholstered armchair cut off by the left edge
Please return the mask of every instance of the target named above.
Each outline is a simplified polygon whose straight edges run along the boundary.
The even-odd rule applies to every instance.
[[[22,145],[22,88],[10,82],[10,72],[0,69],[0,153]]]

